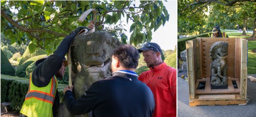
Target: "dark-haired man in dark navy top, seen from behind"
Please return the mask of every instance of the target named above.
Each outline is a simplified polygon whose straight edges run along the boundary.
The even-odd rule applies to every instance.
[[[64,88],[64,104],[71,114],[92,111],[93,117],[151,117],[155,108],[154,96],[134,72],[139,52],[130,45],[117,48],[112,56],[112,76],[91,85],[75,100],[72,89]]]

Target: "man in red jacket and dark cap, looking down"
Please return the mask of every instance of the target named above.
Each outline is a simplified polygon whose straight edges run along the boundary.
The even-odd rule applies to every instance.
[[[162,50],[156,43],[144,44],[138,51],[144,56],[149,71],[140,74],[155,98],[152,117],[176,117],[176,69],[162,61]]]

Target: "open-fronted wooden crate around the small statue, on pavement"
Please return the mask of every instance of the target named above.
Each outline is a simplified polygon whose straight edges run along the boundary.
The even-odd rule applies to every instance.
[[[228,88],[212,89],[210,49],[214,42],[226,41],[228,50]],[[189,106],[245,105],[247,102],[247,40],[241,38],[197,38],[186,41]],[[197,89],[205,82],[204,89]],[[233,83],[237,87],[233,86]]]

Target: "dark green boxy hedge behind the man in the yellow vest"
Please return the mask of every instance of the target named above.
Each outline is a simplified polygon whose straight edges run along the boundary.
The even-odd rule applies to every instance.
[[[29,85],[29,79],[1,74],[1,102],[11,102],[12,109],[21,110]],[[63,102],[63,89],[66,84],[59,84],[60,102]]]

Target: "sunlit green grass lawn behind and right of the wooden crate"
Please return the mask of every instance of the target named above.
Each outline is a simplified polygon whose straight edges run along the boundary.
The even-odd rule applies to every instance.
[[[227,32],[227,35],[231,38],[239,37],[239,38],[250,38],[251,33],[246,33],[246,36],[241,36],[242,32],[238,33],[230,33]],[[256,53],[252,52],[256,50],[256,41],[248,41],[248,65],[247,65],[247,73],[248,74],[256,74]]]

